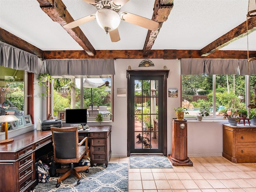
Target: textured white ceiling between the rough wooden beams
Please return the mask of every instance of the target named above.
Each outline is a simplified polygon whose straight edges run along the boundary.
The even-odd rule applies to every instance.
[[[83,0],[62,0],[74,20],[95,13]],[[130,0],[121,11],[152,18],[155,0]],[[246,21],[248,0],[174,0],[168,20],[152,49],[200,50]],[[0,27],[41,50],[82,50],[70,35],[45,14],[36,0],[0,0]],[[121,21],[121,40],[111,42],[96,20],[80,26],[96,50],[142,50],[148,30]],[[256,32],[248,36],[256,50]],[[247,37],[222,50],[247,50]]]

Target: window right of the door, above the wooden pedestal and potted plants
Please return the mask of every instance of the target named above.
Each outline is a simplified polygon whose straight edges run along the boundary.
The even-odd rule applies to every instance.
[[[197,116],[202,108],[209,110],[209,118],[246,108],[245,93],[242,75],[182,75],[182,106],[189,112],[186,117]]]

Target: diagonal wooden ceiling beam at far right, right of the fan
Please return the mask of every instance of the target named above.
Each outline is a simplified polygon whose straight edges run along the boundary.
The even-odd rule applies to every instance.
[[[248,34],[256,30],[256,17],[248,19]],[[246,30],[246,21],[238,25],[236,28],[230,30],[226,34],[222,35],[220,38],[216,39],[214,42],[211,42],[204,48],[200,50],[201,56],[208,56],[216,50],[227,46],[231,42],[238,40],[247,35]]]

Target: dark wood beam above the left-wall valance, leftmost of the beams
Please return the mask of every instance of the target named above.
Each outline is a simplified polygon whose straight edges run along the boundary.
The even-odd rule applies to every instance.
[[[14,34],[0,28],[0,40],[11,46],[22,49],[26,52],[37,55],[39,58],[43,58],[43,51],[34,45],[22,40],[21,38],[15,36]]]

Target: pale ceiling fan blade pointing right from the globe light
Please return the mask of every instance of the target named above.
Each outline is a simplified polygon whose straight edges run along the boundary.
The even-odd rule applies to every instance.
[[[134,25],[138,25],[141,27],[144,27],[146,29],[149,29],[151,31],[154,31],[158,28],[159,23],[156,21],[153,21],[151,19],[142,17],[142,16],[138,16],[132,13],[128,13],[128,12],[120,12],[119,13],[121,20],[129,22],[131,24]]]

